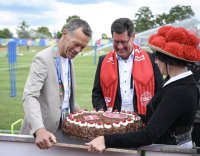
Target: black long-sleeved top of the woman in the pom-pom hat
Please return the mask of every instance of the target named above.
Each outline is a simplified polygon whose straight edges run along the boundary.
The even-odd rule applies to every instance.
[[[171,134],[191,130],[199,100],[192,75],[158,91],[147,106],[146,126],[136,132],[105,135],[106,147],[133,148],[152,143],[177,144]]]

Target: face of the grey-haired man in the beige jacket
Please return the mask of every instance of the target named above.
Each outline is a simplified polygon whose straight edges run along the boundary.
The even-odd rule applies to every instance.
[[[82,28],[78,28],[69,34],[66,30],[62,33],[58,46],[60,55],[64,58],[73,59],[88,44],[89,37],[82,32]]]

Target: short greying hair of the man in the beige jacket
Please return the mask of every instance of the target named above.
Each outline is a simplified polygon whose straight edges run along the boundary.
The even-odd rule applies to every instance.
[[[78,29],[78,28],[82,28],[82,32],[88,36],[91,37],[92,36],[92,30],[90,28],[90,25],[88,24],[88,22],[80,19],[80,18],[75,18],[70,20],[65,26],[64,29],[67,29],[68,33],[72,34],[74,30]]]

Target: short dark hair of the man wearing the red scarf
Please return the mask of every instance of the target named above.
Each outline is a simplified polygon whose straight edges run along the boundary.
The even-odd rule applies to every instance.
[[[122,34],[127,31],[128,36],[131,37],[133,34],[134,26],[133,22],[129,18],[118,18],[111,25],[111,34],[113,36],[113,32],[117,34]]]

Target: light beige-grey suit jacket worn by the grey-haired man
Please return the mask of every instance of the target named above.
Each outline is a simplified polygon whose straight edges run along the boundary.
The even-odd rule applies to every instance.
[[[63,97],[59,95],[56,57],[60,57],[59,54],[56,54],[53,47],[49,47],[39,52],[33,59],[24,88],[23,106],[25,118],[20,134],[33,134],[41,127],[45,127],[52,133],[55,133],[58,129]],[[71,62],[70,71],[72,86],[70,111],[73,112],[75,105],[73,62]]]

